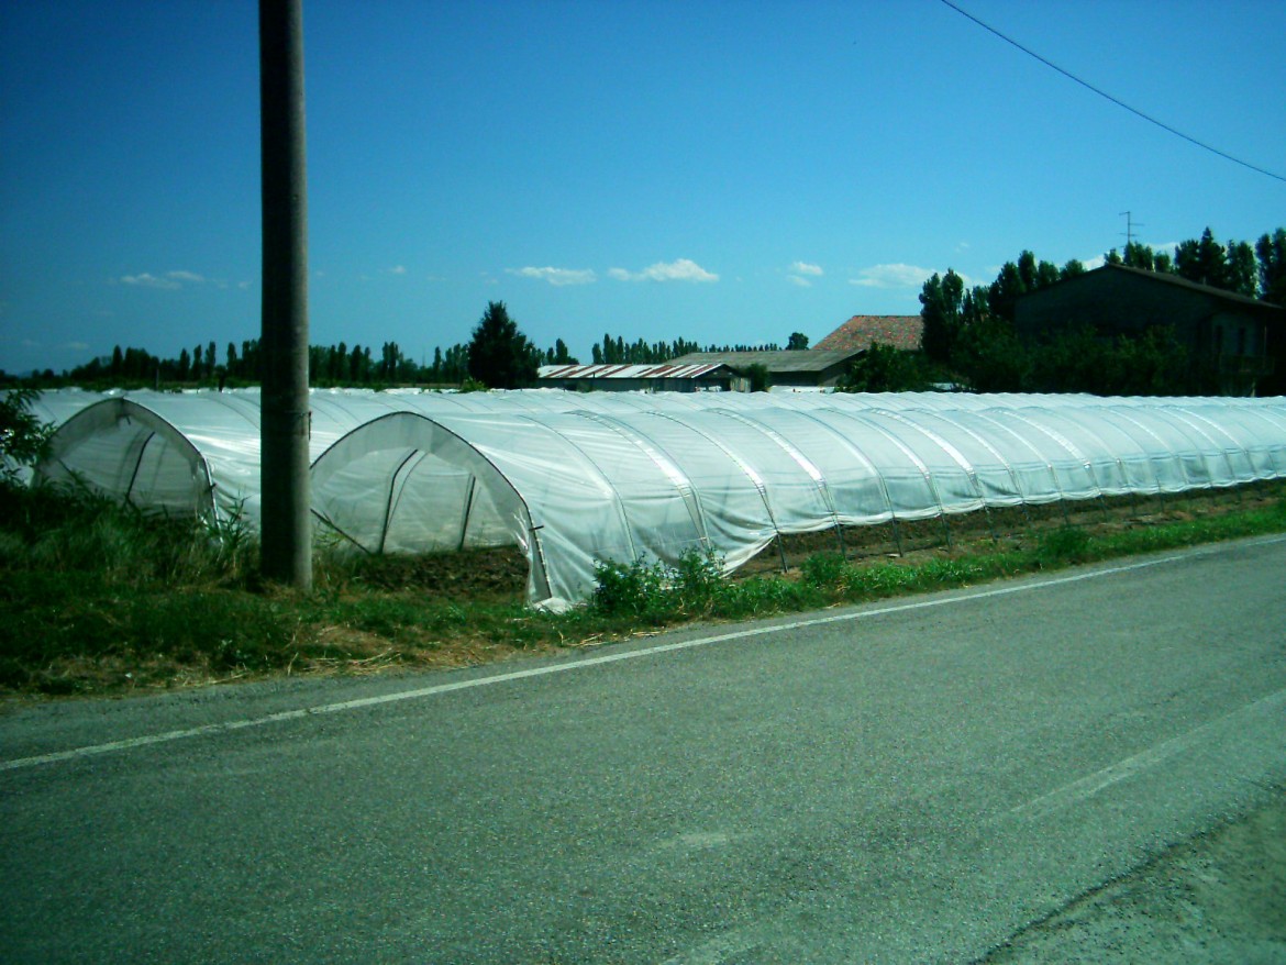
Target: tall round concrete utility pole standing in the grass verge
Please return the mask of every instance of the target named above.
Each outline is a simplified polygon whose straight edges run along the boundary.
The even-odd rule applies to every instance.
[[[264,207],[264,576],[312,585],[309,492],[309,243],[303,152],[302,0],[260,0]]]

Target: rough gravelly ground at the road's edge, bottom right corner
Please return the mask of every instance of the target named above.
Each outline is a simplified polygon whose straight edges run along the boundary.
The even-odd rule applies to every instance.
[[[1286,793],[1076,899],[983,960],[1286,962]]]

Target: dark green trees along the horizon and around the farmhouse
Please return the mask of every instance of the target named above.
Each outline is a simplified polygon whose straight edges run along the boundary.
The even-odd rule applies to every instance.
[[[1181,242],[1174,252],[1154,251],[1129,241],[1123,251],[1106,252],[1107,264],[1174,274],[1286,306],[1286,229],[1262,235],[1255,244],[1220,243],[1206,228],[1200,238]],[[1058,266],[1022,251],[1007,261],[990,284],[966,287],[954,270],[935,273],[919,293],[923,320],[919,351],[874,346],[845,381],[850,390],[899,391],[950,383],[975,391],[1084,391],[1112,395],[1173,395],[1218,391],[1210,374],[1195,364],[1191,350],[1173,332],[1138,335],[1096,332],[1092,327],[1060,333],[1043,345],[1024,345],[1015,332],[1015,310],[1024,295],[1085,271],[1071,260]],[[808,349],[809,340],[792,332],[786,347]],[[765,351],[769,345],[706,345],[687,340],[626,342],[604,333],[592,349],[594,364],[658,364],[694,351]],[[396,342],[346,342],[309,349],[310,383],[320,387],[431,386],[518,389],[534,385],[541,364],[571,365],[562,338],[548,349],[535,346],[517,327],[504,302],[489,302],[467,342],[435,347],[432,360],[415,362]],[[23,380],[33,387],[244,386],[260,381],[257,338],[228,342],[220,351],[211,341],[163,359],[144,349],[116,346],[55,376],[51,371]],[[14,382],[0,372],[0,382]],[[763,381],[763,380],[760,380]]]

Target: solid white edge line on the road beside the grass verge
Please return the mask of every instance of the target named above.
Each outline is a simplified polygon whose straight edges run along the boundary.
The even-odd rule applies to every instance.
[[[1286,537],[1269,538],[1263,542],[1283,542]],[[239,731],[247,727],[262,727],[264,724],[279,723],[282,721],[297,721],[302,717],[309,717],[310,714],[337,714],[345,710],[358,710],[365,706],[378,706],[381,704],[396,704],[404,700],[419,700],[422,697],[432,697],[439,694],[450,694],[458,690],[472,690],[473,687],[489,687],[496,683],[508,683],[511,681],[521,681],[530,677],[545,677],[553,673],[566,673],[568,670],[580,670],[586,666],[598,666],[599,664],[615,664],[620,660],[635,660],[644,656],[655,656],[657,654],[667,654],[675,650],[692,650],[694,647],[709,646],[710,643],[724,643],[732,639],[747,639],[750,637],[763,637],[770,633],[786,633],[790,630],[802,629],[805,627],[820,627],[829,623],[847,623],[855,620],[867,620],[876,616],[886,616],[889,614],[900,614],[909,610],[927,610],[935,606],[948,606],[954,603],[966,603],[975,600],[988,600],[992,597],[1010,596],[1011,593],[1028,593],[1035,589],[1047,589],[1049,587],[1061,587],[1067,583],[1079,583],[1082,580],[1098,579],[1100,576],[1112,576],[1119,573],[1130,573],[1133,570],[1146,570],[1154,566],[1161,566],[1164,564],[1175,562],[1178,560],[1190,558],[1191,553],[1161,556],[1141,562],[1125,564],[1123,566],[1111,566],[1102,570],[1088,570],[1084,573],[1074,573],[1067,576],[1053,576],[1046,580],[1025,582],[1020,584],[1010,584],[1003,587],[994,587],[992,589],[980,589],[972,593],[955,593],[948,597],[936,597],[934,600],[913,600],[907,603],[896,603],[892,606],[881,606],[871,610],[859,610],[855,612],[835,614],[831,616],[815,616],[809,620],[795,620],[792,623],[778,623],[770,627],[755,627],[751,629],[732,630],[730,633],[719,633],[711,637],[697,637],[694,639],[684,639],[676,643],[660,643],[653,647],[643,647],[640,650],[624,650],[616,654],[604,654],[602,656],[583,657],[580,660],[568,660],[566,663],[547,664],[543,666],[532,666],[526,670],[511,670],[508,673],[499,673],[491,677],[475,677],[468,681],[455,681],[453,683],[439,683],[432,687],[419,687],[417,690],[399,691],[396,694],[385,694],[378,697],[360,697],[358,700],[345,700],[337,704],[319,704],[310,708],[301,708],[298,710],[283,710],[275,714],[267,714],[265,717],[246,718],[242,721],[229,721],[225,723],[204,724],[202,727],[189,727],[180,731],[166,731],[165,733],[153,733],[144,737],[129,737],[126,740],[109,741],[107,744],[94,744],[85,748],[73,748],[71,750],[59,750],[50,754],[37,754],[30,758],[14,758],[13,760],[0,762],[0,771],[17,771],[24,767],[35,767],[37,764],[53,764],[60,760],[76,760],[78,758],[95,757],[98,754],[109,754],[117,750],[131,750],[134,748],[145,748],[152,744],[166,744],[168,741],[185,740],[188,737],[203,737],[212,733],[222,733],[226,731]]]

